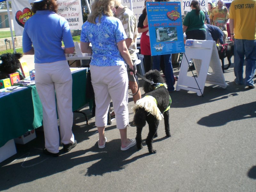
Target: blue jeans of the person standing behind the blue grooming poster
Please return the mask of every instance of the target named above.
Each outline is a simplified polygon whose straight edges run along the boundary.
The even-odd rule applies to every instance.
[[[168,91],[174,91],[174,75],[172,70],[172,54],[166,54],[164,56],[164,76],[166,79],[166,84],[168,86]],[[157,69],[160,71],[160,57],[161,55],[153,56],[153,67],[152,69]]]

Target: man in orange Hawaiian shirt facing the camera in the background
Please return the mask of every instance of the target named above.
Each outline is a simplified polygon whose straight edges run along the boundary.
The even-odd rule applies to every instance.
[[[223,0],[219,0],[217,6],[212,8],[212,12],[210,14],[210,24],[219,27],[223,31],[223,40],[225,44],[228,36],[226,24],[229,19],[229,12],[227,7],[223,6],[223,4]]]

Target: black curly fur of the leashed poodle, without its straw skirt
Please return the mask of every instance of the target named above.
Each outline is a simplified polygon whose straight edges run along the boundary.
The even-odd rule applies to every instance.
[[[153,81],[154,83],[165,83],[164,78],[161,76],[158,70],[148,71],[145,75],[145,78],[147,78],[150,81]],[[170,97],[169,97],[168,90],[164,86],[161,86],[155,89],[155,85],[151,85],[148,82],[144,83],[143,89],[146,95],[150,95],[156,99],[157,107],[159,108],[161,113],[163,113],[164,110],[170,104]],[[164,128],[165,128],[166,137],[171,137],[170,127],[169,127],[169,110],[165,111],[163,115],[164,115]],[[146,139],[146,144],[148,145],[148,151],[149,153],[156,153],[156,150],[154,150],[152,147],[152,142],[153,142],[153,138],[157,137],[157,128],[159,125],[159,120],[157,120],[155,116],[145,111],[144,108],[136,109],[133,117],[133,123],[137,127],[137,135],[136,135],[137,148],[138,149],[142,148],[141,132],[142,132],[142,128],[146,125],[146,122],[148,123],[148,128],[149,128],[148,137]]]

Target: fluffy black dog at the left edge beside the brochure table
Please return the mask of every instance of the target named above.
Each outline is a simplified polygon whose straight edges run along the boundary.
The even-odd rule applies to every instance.
[[[9,74],[17,72],[20,68],[19,59],[23,55],[21,53],[4,53],[0,55],[0,79],[9,78]],[[20,75],[20,79],[24,79],[22,75]]]

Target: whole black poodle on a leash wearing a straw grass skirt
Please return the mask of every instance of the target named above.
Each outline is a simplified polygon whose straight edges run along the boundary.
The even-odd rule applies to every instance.
[[[135,111],[133,123],[137,127],[136,142],[137,148],[141,149],[141,132],[142,128],[148,123],[149,133],[146,139],[149,153],[156,153],[152,147],[153,138],[157,137],[157,128],[159,120],[164,117],[164,128],[166,137],[171,137],[169,128],[169,108],[171,105],[171,97],[167,90],[164,78],[158,70],[150,70],[146,73],[145,78],[153,81],[154,84],[145,82],[143,89],[146,95],[138,100],[133,107]],[[163,114],[163,115],[162,115]]]

